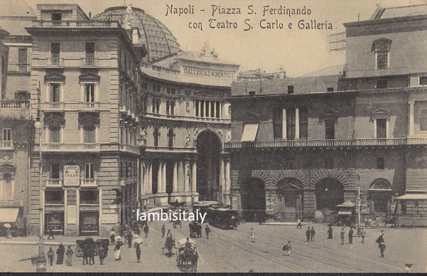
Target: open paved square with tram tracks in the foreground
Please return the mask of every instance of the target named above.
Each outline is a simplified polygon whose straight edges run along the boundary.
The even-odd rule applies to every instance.
[[[104,265],[82,265],[82,258],[75,258],[73,265],[48,266],[48,272],[179,272],[176,255],[162,255],[164,239],[161,238],[161,222],[150,225],[148,238],[141,245],[141,263],[136,262],[134,248],[122,246],[122,260],[114,261],[113,245],[110,245]],[[188,223],[182,228],[171,229],[173,238],[179,240],[188,236]],[[315,241],[306,242],[306,229],[296,229],[294,225],[258,225],[244,223],[237,230],[221,230],[211,227],[207,240],[195,238],[200,258],[197,272],[404,272],[405,263],[413,263],[412,272],[427,272],[427,229],[385,229],[384,240],[387,245],[385,258],[379,257],[375,240],[379,228],[367,229],[365,243],[361,238],[353,238],[348,244],[348,228],[345,228],[345,245],[340,245],[340,228],[334,227],[333,240],[326,238],[327,227],[313,224],[316,230]],[[308,227],[308,225],[306,226]],[[254,228],[255,243],[250,238],[250,228]],[[204,229],[204,227],[203,227]],[[74,243],[77,238],[58,237],[63,243]],[[82,239],[82,238],[78,238]],[[281,250],[291,240],[291,256]],[[9,240],[8,240],[9,241]],[[16,238],[16,242],[37,241],[36,237]],[[56,241],[56,240],[55,240]],[[50,241],[49,241],[50,242]],[[29,260],[19,261],[37,254],[37,245],[1,244],[1,272],[35,272],[36,267]],[[47,252],[50,245],[45,245]],[[52,245],[56,250],[58,246]],[[73,247],[74,249],[74,247]]]

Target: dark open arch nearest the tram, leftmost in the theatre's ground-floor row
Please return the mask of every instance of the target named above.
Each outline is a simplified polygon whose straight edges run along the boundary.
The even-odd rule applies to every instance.
[[[264,222],[266,192],[261,179],[251,178],[240,188],[244,221]]]

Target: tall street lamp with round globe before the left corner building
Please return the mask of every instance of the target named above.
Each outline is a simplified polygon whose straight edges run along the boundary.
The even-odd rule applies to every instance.
[[[41,156],[41,122],[40,117],[37,118],[37,121],[34,123],[38,132],[38,184],[39,184],[39,201],[40,206],[38,208],[40,229],[39,229],[39,239],[38,239],[38,256],[37,256],[37,266],[36,272],[46,272],[46,259],[45,259],[45,249],[43,247],[43,201],[42,201],[42,184],[41,184],[41,174],[42,174],[42,156]]]

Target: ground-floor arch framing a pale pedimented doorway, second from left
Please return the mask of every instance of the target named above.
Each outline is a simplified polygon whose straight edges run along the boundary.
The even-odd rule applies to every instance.
[[[276,214],[281,221],[303,218],[303,184],[298,179],[286,178],[277,183]]]

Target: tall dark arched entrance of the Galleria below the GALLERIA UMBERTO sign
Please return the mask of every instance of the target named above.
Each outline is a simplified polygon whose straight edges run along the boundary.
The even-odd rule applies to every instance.
[[[197,138],[197,191],[199,201],[220,201],[220,152],[222,144],[217,134],[202,131]]]

